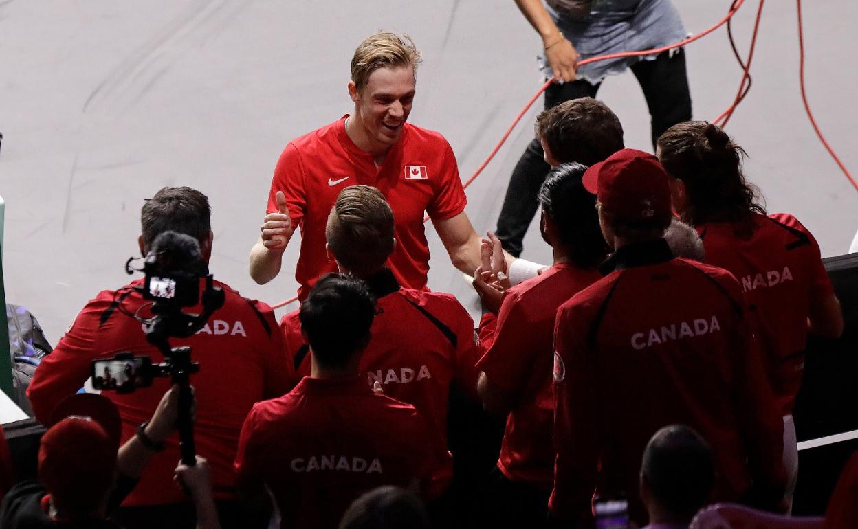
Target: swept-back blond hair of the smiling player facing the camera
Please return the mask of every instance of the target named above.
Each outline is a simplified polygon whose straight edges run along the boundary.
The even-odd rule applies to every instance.
[[[408,33],[378,32],[367,37],[354,51],[352,57],[352,81],[358,91],[366,87],[372,72],[379,68],[410,66],[417,75],[420,66],[420,51]]]

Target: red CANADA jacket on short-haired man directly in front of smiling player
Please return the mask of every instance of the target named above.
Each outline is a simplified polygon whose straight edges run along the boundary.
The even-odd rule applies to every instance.
[[[378,301],[372,339],[360,358],[364,380],[369,387],[381,382],[385,395],[414,405],[446,439],[450,383],[476,392],[474,365],[483,350],[474,340],[474,320],[451,294],[402,288],[390,270],[366,284]],[[283,317],[281,329],[296,371],[309,376],[298,311]]]

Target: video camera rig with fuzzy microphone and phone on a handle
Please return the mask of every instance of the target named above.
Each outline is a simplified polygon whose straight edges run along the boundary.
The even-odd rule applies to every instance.
[[[125,263],[128,274],[135,272],[130,267],[132,259]],[[196,463],[196,450],[191,424],[190,375],[198,372],[200,366],[190,359],[190,347],[171,347],[169,339],[187,338],[200,330],[215,310],[223,306],[226,296],[215,286],[212,274],[208,274],[199,243],[183,233],[164,231],[155,237],[142,271],[146,279],[136,291],[152,302],[141,309],[148,306],[153,316],[142,317],[140,310],[131,316],[142,322],[146,340],[158,347],[165,361],[154,364],[151,358],[135,357],[130,352],[93,360],[93,387],[127,394],[136,388],[151,386],[155,377],[170,376],[172,383],[179,386],[178,434],[182,462],[192,466]],[[182,310],[198,304],[202,304],[198,314]]]

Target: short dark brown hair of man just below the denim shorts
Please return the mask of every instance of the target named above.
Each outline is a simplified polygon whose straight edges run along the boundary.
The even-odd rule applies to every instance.
[[[542,111],[536,117],[536,137],[545,140],[560,163],[593,165],[624,147],[619,118],[593,98],[571,99]]]

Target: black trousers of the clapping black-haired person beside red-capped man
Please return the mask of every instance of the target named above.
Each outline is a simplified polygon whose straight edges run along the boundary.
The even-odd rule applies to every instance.
[[[511,481],[495,466],[483,489],[480,527],[547,527],[548,496],[551,492]]]

